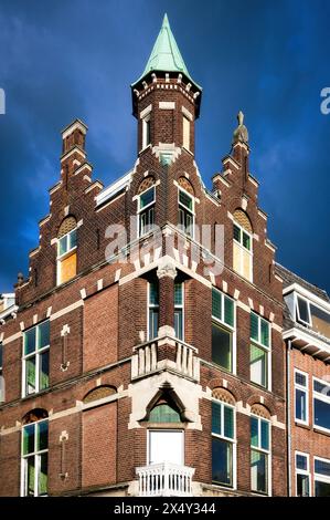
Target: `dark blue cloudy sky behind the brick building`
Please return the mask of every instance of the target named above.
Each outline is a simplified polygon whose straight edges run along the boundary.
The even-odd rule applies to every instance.
[[[277,260],[330,291],[330,2],[316,0],[0,0],[0,292],[9,291],[60,176],[60,131],[89,127],[94,178],[111,183],[136,158],[129,84],[164,12],[203,86],[196,162],[210,186],[242,108],[251,170]]]

